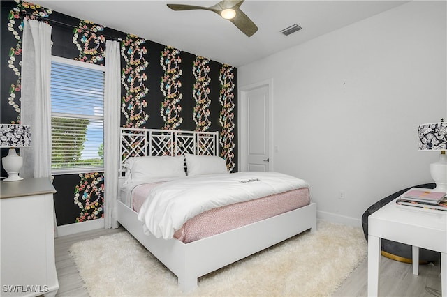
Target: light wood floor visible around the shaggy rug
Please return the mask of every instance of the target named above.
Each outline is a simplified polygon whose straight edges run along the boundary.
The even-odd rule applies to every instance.
[[[78,270],[68,253],[68,249],[73,243],[122,231],[125,230],[122,228],[98,229],[56,238],[56,268],[59,279],[59,291],[56,296],[89,296],[83,288]],[[382,257],[381,261],[379,277],[381,296],[441,296],[441,267],[439,261],[434,264],[421,265],[417,276],[413,275],[410,264],[393,261],[385,257]],[[367,296],[367,261],[363,261],[353,271],[333,296]]]

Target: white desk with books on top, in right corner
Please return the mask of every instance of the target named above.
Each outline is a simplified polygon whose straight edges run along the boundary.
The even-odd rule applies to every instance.
[[[368,217],[368,296],[379,296],[381,238],[413,246],[413,274],[419,248],[441,252],[441,290],[447,297],[447,212],[403,208],[395,200]]]

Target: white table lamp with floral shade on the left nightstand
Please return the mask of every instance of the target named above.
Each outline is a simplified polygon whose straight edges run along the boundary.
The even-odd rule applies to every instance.
[[[20,181],[23,158],[17,155],[15,148],[30,146],[31,131],[29,125],[0,124],[0,148],[9,148],[6,157],[1,158],[3,168],[8,172],[8,178],[3,181]]]

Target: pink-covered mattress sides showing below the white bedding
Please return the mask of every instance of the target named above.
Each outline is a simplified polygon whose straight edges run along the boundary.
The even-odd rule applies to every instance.
[[[133,188],[131,193],[133,211],[138,213],[149,192],[161,183],[163,182],[145,183]],[[307,206],[309,203],[309,188],[300,188],[213,208],[187,220],[183,227],[175,232],[174,237],[184,243],[191,243]]]

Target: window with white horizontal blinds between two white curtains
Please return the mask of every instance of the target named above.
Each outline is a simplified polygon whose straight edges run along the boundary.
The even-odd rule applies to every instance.
[[[104,71],[104,66],[53,56],[53,174],[103,171]]]

